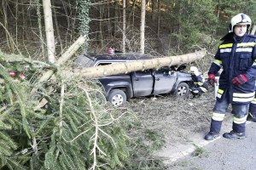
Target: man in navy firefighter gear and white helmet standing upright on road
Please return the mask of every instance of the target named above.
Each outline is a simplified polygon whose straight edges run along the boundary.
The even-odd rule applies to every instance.
[[[251,19],[247,14],[237,14],[230,20],[230,31],[222,38],[223,42],[208,71],[208,82],[213,85],[215,75],[223,68],[206,140],[219,136],[229,104],[232,105],[233,126],[232,131],[224,133],[223,137],[245,138],[247,113],[254,98],[256,77],[256,37],[247,34],[250,26]]]

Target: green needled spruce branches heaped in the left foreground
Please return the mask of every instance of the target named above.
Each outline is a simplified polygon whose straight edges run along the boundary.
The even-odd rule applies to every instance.
[[[57,72],[55,79],[42,83],[32,96],[36,81],[10,77],[6,62],[0,60],[0,168],[125,166],[128,138],[120,118],[126,111],[119,115],[111,109],[96,82],[67,79]],[[38,108],[42,99],[47,104]]]

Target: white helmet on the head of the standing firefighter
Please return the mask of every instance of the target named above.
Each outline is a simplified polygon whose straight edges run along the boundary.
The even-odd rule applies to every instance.
[[[249,30],[250,26],[252,25],[252,20],[247,14],[236,14],[231,20],[230,20],[230,32],[234,31],[234,26],[236,25],[247,25],[247,31]]]

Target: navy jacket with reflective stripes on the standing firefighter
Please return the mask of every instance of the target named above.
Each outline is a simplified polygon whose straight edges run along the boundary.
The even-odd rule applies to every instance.
[[[217,99],[228,99],[231,104],[248,104],[254,98],[256,77],[256,37],[245,34],[239,42],[233,35],[224,37],[224,42],[218,47],[218,52],[208,74],[219,77]],[[234,77],[244,74],[248,81],[237,86],[231,82]]]

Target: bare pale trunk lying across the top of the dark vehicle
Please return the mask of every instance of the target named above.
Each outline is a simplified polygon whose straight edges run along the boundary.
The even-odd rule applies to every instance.
[[[85,69],[74,69],[73,76],[96,78],[106,77],[116,74],[128,73],[132,71],[143,71],[147,69],[159,69],[163,66],[182,65],[184,63],[191,63],[197,59],[203,58],[207,54],[206,49],[202,49],[195,53],[183,54],[171,57],[157,58],[157,59],[139,59],[137,61],[117,63],[112,65],[100,65],[96,67],[89,67]]]

